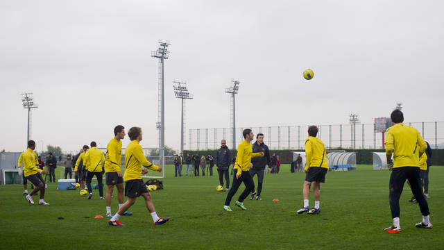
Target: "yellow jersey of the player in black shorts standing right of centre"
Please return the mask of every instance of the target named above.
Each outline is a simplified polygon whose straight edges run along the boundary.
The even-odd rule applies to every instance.
[[[305,171],[309,167],[323,167],[328,169],[327,153],[321,139],[309,136],[305,139]]]

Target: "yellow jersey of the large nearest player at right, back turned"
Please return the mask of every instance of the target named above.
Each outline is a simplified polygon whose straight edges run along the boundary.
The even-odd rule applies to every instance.
[[[427,149],[427,143],[418,130],[399,123],[387,128],[386,133],[386,154],[393,152],[393,168],[419,167],[419,155]]]

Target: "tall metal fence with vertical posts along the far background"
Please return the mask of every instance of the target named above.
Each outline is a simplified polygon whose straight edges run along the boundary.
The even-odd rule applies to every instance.
[[[404,122],[418,129],[422,138],[429,142],[432,149],[444,149],[444,122]],[[383,133],[375,132],[375,124],[336,124],[317,125],[320,138],[327,149],[383,149]],[[264,134],[264,142],[268,148],[303,149],[309,125],[302,126],[262,126],[253,127],[253,133]],[[244,140],[242,131],[236,129],[236,144]],[[188,142],[185,149],[207,150],[219,149],[220,141],[225,139],[232,148],[231,128],[191,128],[188,130]],[[353,140],[355,138],[355,140]],[[237,145],[235,145],[237,147]]]

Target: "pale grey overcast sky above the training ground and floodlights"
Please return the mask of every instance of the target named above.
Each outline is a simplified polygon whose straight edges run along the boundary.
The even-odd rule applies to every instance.
[[[165,61],[166,144],[187,128],[230,126],[225,88],[239,79],[237,125],[348,124],[388,117],[444,121],[444,1],[0,1],[0,150],[26,149],[21,93],[33,92],[40,151],[141,126],[157,146],[157,67]],[[314,78],[302,78],[304,69]],[[185,133],[188,135],[188,133]],[[123,146],[129,139],[123,140]]]

